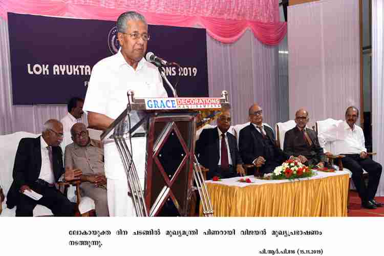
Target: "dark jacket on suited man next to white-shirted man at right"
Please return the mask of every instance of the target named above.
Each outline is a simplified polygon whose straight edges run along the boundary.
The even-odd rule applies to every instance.
[[[317,135],[315,131],[311,129],[306,129],[309,138],[313,143],[313,151],[309,151],[306,155],[308,159],[316,158],[318,161],[327,161],[327,157],[324,155],[323,148],[318,143]],[[284,137],[284,152],[288,156],[299,156],[300,152],[297,152],[295,149],[295,141],[297,141],[297,136],[300,136],[300,130],[298,130],[297,126],[293,127],[291,130],[285,133]]]

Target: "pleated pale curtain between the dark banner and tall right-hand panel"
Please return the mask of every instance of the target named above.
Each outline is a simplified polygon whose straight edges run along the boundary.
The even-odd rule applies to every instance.
[[[262,44],[247,30],[234,44],[207,36],[207,53],[209,96],[228,91],[232,124],[248,122],[254,102],[262,106],[264,122],[278,122],[278,47]]]

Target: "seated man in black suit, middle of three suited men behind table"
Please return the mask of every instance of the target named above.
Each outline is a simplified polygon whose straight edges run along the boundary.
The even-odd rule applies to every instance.
[[[262,174],[271,173],[288,157],[276,146],[272,129],[263,124],[263,110],[258,104],[250,106],[249,120],[239,134],[241,157],[244,163],[260,167]]]

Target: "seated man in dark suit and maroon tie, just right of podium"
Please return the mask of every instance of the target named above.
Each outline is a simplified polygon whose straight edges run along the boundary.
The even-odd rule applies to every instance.
[[[204,129],[196,142],[199,162],[209,169],[208,179],[215,176],[232,178],[244,175],[236,138],[227,132],[230,124],[230,112],[223,110],[217,120],[217,127]]]

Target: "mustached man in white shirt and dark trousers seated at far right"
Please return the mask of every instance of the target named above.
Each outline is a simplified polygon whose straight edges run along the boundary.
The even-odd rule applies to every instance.
[[[323,148],[326,142],[332,142],[333,152],[326,152],[327,156],[332,154],[346,156],[342,160],[343,166],[352,172],[352,180],[361,199],[361,206],[376,209],[383,206],[374,200],[381,176],[381,164],[367,155],[364,133],[355,124],[358,115],[357,108],[350,106],[345,113],[345,121],[332,127],[327,134],[319,134],[318,138]],[[363,168],[369,174],[368,187],[362,179]]]

